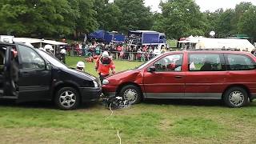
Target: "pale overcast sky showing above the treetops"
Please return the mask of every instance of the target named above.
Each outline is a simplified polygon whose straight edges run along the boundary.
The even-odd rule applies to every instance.
[[[152,11],[160,12],[158,5],[160,0],[145,0],[146,6],[151,6]],[[228,8],[235,7],[236,4],[240,2],[252,2],[256,6],[256,0],[195,0],[198,6],[200,6],[201,11],[214,11],[218,8],[223,8],[224,10]]]

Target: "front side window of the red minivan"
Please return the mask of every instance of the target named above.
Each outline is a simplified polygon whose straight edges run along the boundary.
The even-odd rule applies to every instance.
[[[182,54],[171,54],[154,63],[156,71],[182,71]]]

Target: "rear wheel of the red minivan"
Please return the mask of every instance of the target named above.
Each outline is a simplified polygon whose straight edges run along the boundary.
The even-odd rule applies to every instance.
[[[248,94],[242,87],[232,87],[226,90],[223,100],[226,106],[242,107],[248,103]]]

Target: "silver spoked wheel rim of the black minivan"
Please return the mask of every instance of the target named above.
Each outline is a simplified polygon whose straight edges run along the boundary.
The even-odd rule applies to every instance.
[[[75,96],[72,91],[64,91],[61,96],[59,97],[59,102],[64,107],[71,107],[74,106],[75,103]]]

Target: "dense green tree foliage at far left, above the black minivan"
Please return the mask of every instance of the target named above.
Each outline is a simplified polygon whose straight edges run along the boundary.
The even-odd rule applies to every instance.
[[[55,37],[74,30],[95,30],[93,0],[3,0],[0,32],[15,36]],[[97,22],[96,22],[97,24]]]

